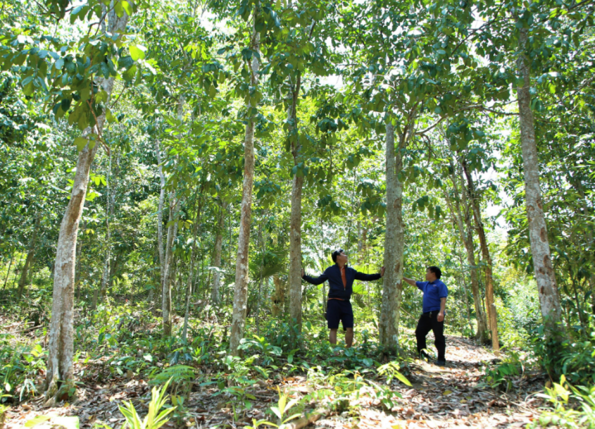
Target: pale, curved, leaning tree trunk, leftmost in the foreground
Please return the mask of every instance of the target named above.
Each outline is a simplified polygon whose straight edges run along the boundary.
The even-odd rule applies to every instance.
[[[126,30],[128,15],[118,17],[112,10],[107,15],[108,32],[118,35]],[[114,77],[97,78],[96,81],[111,96]],[[101,134],[104,128],[105,112],[97,118],[95,131]],[[92,133],[87,128],[83,135]],[[49,326],[48,365],[46,371],[46,405],[52,406],[62,396],[68,396],[76,387],[73,377],[74,350],[74,268],[76,266],[76,242],[84,199],[89,182],[89,169],[95,158],[98,144],[92,148],[87,144],[79,153],[70,201],[60,224],[56,260],[54,265],[54,294],[52,298],[52,319]]]

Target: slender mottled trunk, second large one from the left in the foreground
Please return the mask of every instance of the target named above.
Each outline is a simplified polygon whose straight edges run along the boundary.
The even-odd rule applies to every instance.
[[[254,25],[250,36],[250,49],[260,52],[260,33],[256,31],[256,19],[260,14],[260,2],[254,5]],[[256,55],[250,62],[250,86],[258,87],[258,69],[260,67]],[[242,184],[242,208],[240,231],[237,239],[236,283],[233,293],[233,314],[231,315],[231,334],[229,348],[235,356],[239,355],[237,347],[244,335],[246,325],[246,308],[248,305],[248,248],[250,245],[250,220],[252,215],[252,185],[254,183],[254,116],[256,106],[248,102],[246,106],[248,123],[244,138],[244,181]]]

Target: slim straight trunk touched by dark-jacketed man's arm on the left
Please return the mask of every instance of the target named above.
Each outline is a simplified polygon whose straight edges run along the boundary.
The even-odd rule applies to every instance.
[[[296,168],[292,180],[292,211],[289,221],[289,317],[296,324],[296,334],[302,331],[302,187],[303,171],[299,170],[300,162],[299,129],[297,127],[297,100],[302,82],[302,75],[297,72],[295,84],[291,82],[292,100],[287,119],[289,122],[289,139],[291,140],[293,165]],[[293,331],[292,331],[293,332]],[[299,344],[295,344],[300,346]]]

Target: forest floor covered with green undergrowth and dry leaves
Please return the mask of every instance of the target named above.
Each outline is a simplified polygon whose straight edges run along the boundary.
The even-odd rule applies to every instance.
[[[437,367],[414,357],[415,336],[408,328],[403,328],[400,355],[389,359],[380,357],[372,325],[356,329],[351,349],[343,348],[342,341],[332,348],[324,321],[308,320],[299,337],[303,347],[295,348],[289,324],[265,320],[259,334],[250,330],[241,346],[243,357],[237,358],[227,352],[225,318],[217,320],[209,308],[191,320],[184,341],[179,335],[162,339],[160,320],[144,303],[77,312],[77,394],[48,408],[40,394],[47,315],[36,314],[31,305],[21,310],[4,308],[0,319],[0,375],[11,395],[4,405],[7,429],[76,427],[75,419],[60,421],[64,416],[76,417],[80,428],[120,428],[126,418],[119,408],[125,402],[143,416],[152,388],[166,383],[166,407],[173,411],[164,427],[171,428],[593,424],[584,413],[568,417],[562,402],[564,391],[566,400],[572,394],[570,388],[552,387],[524,350],[507,350],[497,358],[488,347],[448,335],[447,365]],[[29,320],[31,314],[39,318]],[[176,319],[178,333],[181,322]],[[581,418],[582,424],[572,425]]]

